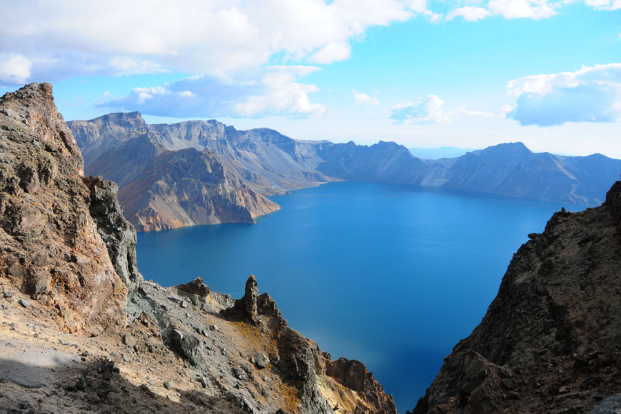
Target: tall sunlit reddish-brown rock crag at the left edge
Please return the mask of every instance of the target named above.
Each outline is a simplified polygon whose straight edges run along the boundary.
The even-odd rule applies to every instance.
[[[48,83],[0,98],[0,277],[69,331],[124,325],[128,288],[89,214],[82,159]]]

